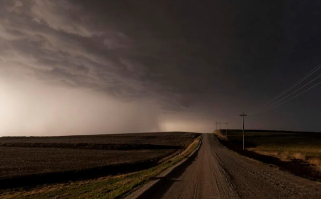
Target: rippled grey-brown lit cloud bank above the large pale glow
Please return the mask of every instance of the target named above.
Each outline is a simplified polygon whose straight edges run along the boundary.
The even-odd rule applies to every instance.
[[[136,41],[97,25],[82,6],[5,0],[0,7],[1,75],[90,88],[122,100],[156,98],[165,108],[180,108],[180,96],[161,80],[162,73],[136,58],[143,56],[135,56]]]

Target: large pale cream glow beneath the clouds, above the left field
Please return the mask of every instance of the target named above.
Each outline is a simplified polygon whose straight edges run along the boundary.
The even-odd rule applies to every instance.
[[[0,136],[159,131],[154,101],[122,102],[88,89],[0,82]]]

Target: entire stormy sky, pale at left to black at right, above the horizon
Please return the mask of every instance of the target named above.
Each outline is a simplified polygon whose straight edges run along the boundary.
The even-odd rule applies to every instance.
[[[34,110],[64,115],[77,101],[75,108],[93,117],[86,125],[99,120],[95,130],[105,133],[211,131],[226,119],[240,128],[242,109],[273,98],[321,63],[320,9],[318,0],[0,0],[0,91],[31,106],[24,116],[8,108],[11,122],[28,124],[11,124],[3,133],[30,134],[31,125],[41,124],[37,130],[46,134],[52,117],[39,121]],[[105,102],[92,102],[91,92],[118,109],[97,113]],[[12,98],[0,98],[0,107],[17,107]],[[49,101],[59,113],[46,109]],[[246,127],[321,131],[320,101],[321,85],[249,115]],[[73,110],[67,118],[77,117]],[[102,118],[117,111],[131,116],[115,117],[118,128],[102,127]],[[30,124],[29,114],[37,122]],[[73,132],[65,133],[77,134],[74,126],[89,117],[76,119],[68,128]],[[150,125],[142,124],[151,117]]]

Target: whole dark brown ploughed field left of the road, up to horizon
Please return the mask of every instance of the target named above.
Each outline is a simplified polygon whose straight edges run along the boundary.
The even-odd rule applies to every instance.
[[[30,185],[30,180],[51,183],[146,169],[184,150],[197,136],[156,132],[0,137],[0,188]]]

